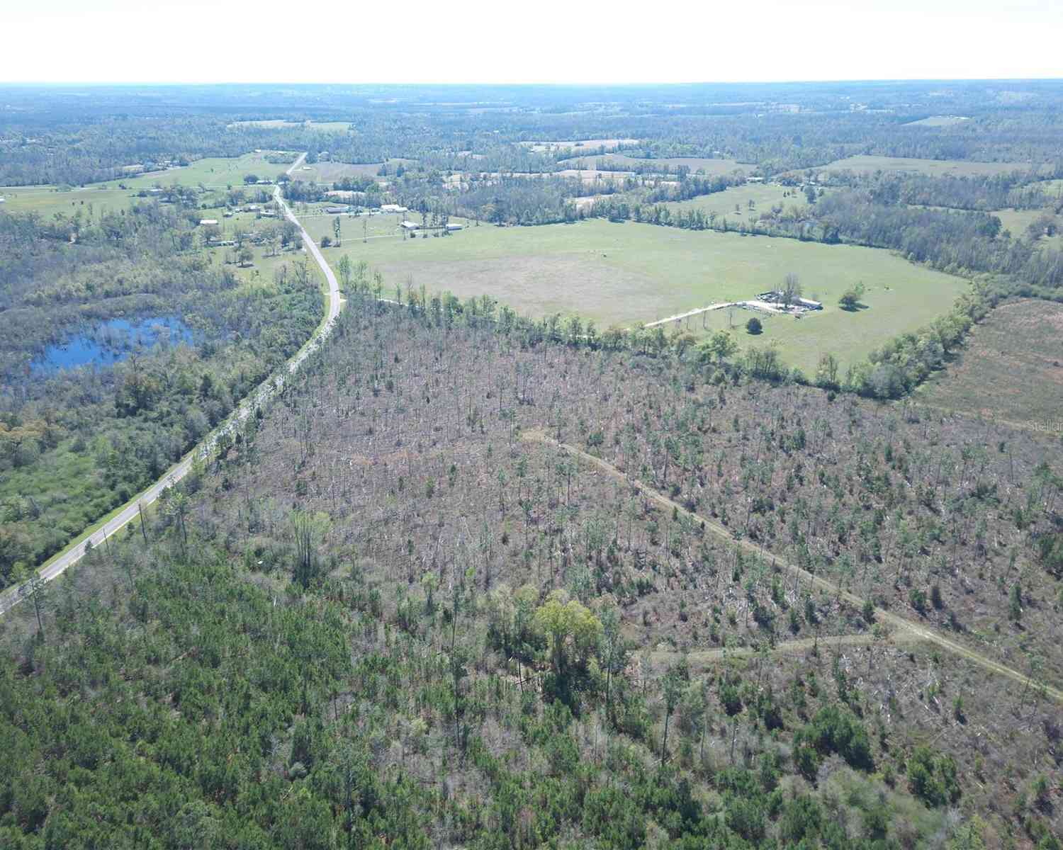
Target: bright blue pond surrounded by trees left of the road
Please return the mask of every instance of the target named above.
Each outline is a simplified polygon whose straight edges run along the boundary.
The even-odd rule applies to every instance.
[[[57,372],[79,366],[107,367],[124,360],[138,348],[191,341],[191,328],[174,317],[111,319],[87,334],[49,345],[31,368],[36,372]]]

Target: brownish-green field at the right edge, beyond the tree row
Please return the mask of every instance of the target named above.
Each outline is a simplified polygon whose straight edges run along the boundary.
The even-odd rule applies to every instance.
[[[928,404],[1063,430],[1063,304],[997,307],[944,373],[918,390]],[[1046,427],[1047,424],[1047,427]]]

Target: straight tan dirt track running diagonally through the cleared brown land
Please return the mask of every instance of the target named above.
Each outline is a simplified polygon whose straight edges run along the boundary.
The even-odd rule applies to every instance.
[[[766,549],[763,549],[760,546],[750,543],[747,540],[739,540],[719,523],[715,523],[712,520],[702,516],[698,513],[694,513],[693,511],[687,510],[678,502],[673,502],[663,493],[660,493],[654,490],[653,488],[647,487],[646,484],[642,483],[642,481],[628,477],[625,473],[618,470],[608,461],[602,460],[602,458],[596,458],[593,455],[584,452],[580,448],[576,448],[573,445],[569,445],[568,443],[558,442],[557,440],[552,439],[551,437],[549,437],[547,435],[545,435],[540,430],[525,431],[522,435],[522,438],[535,442],[547,443],[564,452],[568,452],[573,457],[579,458],[580,460],[590,463],[592,466],[595,466],[596,469],[601,470],[606,475],[612,476],[613,478],[624,481],[625,483],[628,483],[631,487],[638,488],[638,490],[641,493],[643,493],[647,498],[651,498],[654,502],[656,502],[658,505],[661,505],[668,509],[674,508],[679,513],[685,514],[691,517],[692,520],[696,520],[699,523],[705,523],[705,527],[707,530],[711,531],[713,534],[716,534],[720,538],[723,538],[729,543],[733,543],[736,546],[741,546],[743,549],[746,549],[747,551],[750,552],[755,552],[763,558],[770,558],[774,563],[777,563],[783,570],[790,572],[791,574],[799,575],[803,581],[806,581],[809,584],[820,588],[821,590],[825,590],[833,596],[845,599],[847,602],[849,602],[849,605],[854,606],[857,609],[863,608],[865,600],[860,598],[856,594],[842,590],[832,581],[827,581],[826,579],[821,578],[819,576],[813,576],[806,570],[803,570],[799,566],[791,564],[790,562],[786,561],[779,556],[774,555],[767,551]],[[885,611],[881,608],[875,609],[875,616],[878,619],[878,622],[882,623],[883,625],[890,627],[893,630],[896,630],[897,632],[907,632],[912,638],[940,646],[942,649],[945,649],[948,652],[951,652],[952,654],[965,658],[968,661],[972,661],[975,664],[978,664],[979,666],[988,670],[991,670],[992,673],[996,673],[1000,676],[1006,676],[1009,679],[1012,679],[1024,686],[1029,685],[1031,687],[1043,687],[1044,693],[1050,699],[1054,700],[1056,702],[1063,703],[1063,691],[1061,691],[1060,688],[1052,687],[1047,683],[1035,682],[1031,680],[1028,676],[1025,676],[1024,674],[1019,673],[1018,670],[1013,669],[1012,667],[1009,667],[1006,664],[1001,664],[997,661],[994,661],[993,659],[988,658],[986,656],[983,656],[980,652],[976,652],[975,650],[969,649],[966,646],[963,646],[962,644],[958,644],[956,641],[945,636],[944,634],[941,634],[940,632],[929,628],[928,626],[924,626],[919,623],[914,623],[908,619],[907,617],[899,616],[891,611]]]

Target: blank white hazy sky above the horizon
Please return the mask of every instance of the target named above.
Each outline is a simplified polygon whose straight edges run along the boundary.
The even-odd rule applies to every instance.
[[[1063,76],[1063,0],[0,0],[3,82]]]

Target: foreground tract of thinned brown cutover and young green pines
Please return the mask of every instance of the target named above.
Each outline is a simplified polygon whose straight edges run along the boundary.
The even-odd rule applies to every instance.
[[[5,846],[1060,847],[1058,444],[349,295],[3,620]]]

